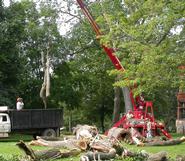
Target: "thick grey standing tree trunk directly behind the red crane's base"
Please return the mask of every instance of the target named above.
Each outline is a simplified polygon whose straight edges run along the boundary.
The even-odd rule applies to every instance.
[[[124,96],[124,102],[125,102],[125,112],[127,113],[129,110],[132,110],[132,102],[130,99],[130,91],[128,87],[123,87],[123,96]]]

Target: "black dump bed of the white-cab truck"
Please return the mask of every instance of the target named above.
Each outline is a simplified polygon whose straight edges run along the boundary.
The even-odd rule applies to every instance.
[[[62,109],[8,110],[11,131],[33,136],[57,137],[63,126]]]

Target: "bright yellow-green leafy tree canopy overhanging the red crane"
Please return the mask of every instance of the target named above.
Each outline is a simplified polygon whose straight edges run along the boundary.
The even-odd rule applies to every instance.
[[[155,93],[178,85],[184,63],[184,8],[180,1],[106,1],[109,26],[102,41],[114,43],[126,68],[120,85],[138,84],[136,93]],[[110,11],[110,8],[114,8]],[[102,21],[104,17],[100,18]],[[180,47],[181,46],[181,47]]]

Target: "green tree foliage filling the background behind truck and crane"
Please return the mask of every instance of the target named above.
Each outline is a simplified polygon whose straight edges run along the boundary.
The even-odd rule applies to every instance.
[[[118,73],[110,72],[114,68],[90,25],[79,8],[72,7],[76,2],[63,2],[67,8],[57,1],[12,1],[8,7],[0,1],[0,105],[15,108],[21,96],[25,108],[43,108],[41,54],[49,50],[48,107],[64,108],[66,124],[71,119],[73,125],[93,122],[102,131],[110,126],[113,84],[137,83],[135,95],[144,92],[154,101],[158,119],[175,118],[176,93],[184,88],[178,66],[185,63],[185,2],[86,1],[104,33],[100,42],[116,49],[126,69],[116,83]],[[65,35],[61,13],[76,18]]]

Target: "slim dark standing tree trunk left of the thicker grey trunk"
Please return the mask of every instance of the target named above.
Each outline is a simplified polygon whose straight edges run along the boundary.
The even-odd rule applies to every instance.
[[[113,124],[119,121],[119,116],[120,116],[120,88],[114,87]]]

